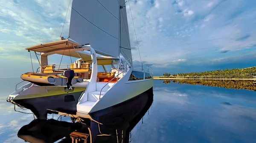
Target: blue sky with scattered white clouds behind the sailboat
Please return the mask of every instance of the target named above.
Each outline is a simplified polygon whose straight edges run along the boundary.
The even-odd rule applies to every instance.
[[[59,40],[66,13],[62,36],[68,37],[69,3],[0,0],[0,77],[31,72],[24,48]],[[141,59],[154,75],[256,66],[255,5],[255,0],[127,0],[132,56],[140,60],[131,13]],[[38,60],[31,56],[36,70]]]

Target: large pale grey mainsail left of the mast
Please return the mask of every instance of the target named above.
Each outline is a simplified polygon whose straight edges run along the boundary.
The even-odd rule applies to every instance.
[[[95,50],[119,56],[119,2],[73,0],[69,36]]]

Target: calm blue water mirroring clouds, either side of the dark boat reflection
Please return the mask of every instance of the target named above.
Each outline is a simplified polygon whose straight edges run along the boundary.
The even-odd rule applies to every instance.
[[[6,102],[20,81],[0,79],[0,143],[24,143],[17,132],[34,119]],[[132,130],[132,143],[256,143],[255,91],[161,80],[154,80],[153,90],[153,104]]]

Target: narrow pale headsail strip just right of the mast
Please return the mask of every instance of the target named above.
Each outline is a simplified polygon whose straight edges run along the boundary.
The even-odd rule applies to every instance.
[[[123,6],[123,8],[120,10],[120,25],[121,25],[120,52],[122,56],[124,56],[125,59],[128,60],[131,58],[131,44],[130,44],[128,22],[127,22],[125,0],[120,0],[120,5]]]

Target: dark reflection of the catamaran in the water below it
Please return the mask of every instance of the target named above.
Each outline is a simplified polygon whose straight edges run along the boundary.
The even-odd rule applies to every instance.
[[[116,107],[105,109],[104,113],[91,114],[95,121],[73,119],[70,123],[35,119],[19,130],[18,137],[30,143],[128,143],[131,130],[152,102],[153,88]]]

